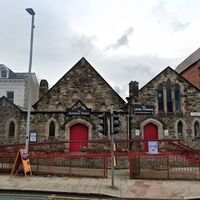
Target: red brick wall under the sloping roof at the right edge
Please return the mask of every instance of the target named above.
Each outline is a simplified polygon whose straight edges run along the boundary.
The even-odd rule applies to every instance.
[[[200,89],[200,62],[189,67],[186,71],[182,72],[181,75]]]

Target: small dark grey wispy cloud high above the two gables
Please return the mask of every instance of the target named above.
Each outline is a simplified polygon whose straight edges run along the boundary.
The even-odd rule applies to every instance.
[[[127,31],[124,32],[124,34],[117,40],[117,42],[115,44],[109,45],[108,47],[106,47],[106,49],[118,49],[121,46],[127,46],[128,47],[128,37],[133,33],[134,28],[133,27],[129,27]]]

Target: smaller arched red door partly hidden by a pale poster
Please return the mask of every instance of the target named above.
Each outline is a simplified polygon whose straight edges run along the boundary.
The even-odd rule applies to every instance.
[[[158,139],[158,127],[152,123],[144,126],[144,139],[145,140],[157,140]],[[144,151],[148,152],[148,141],[144,142]]]

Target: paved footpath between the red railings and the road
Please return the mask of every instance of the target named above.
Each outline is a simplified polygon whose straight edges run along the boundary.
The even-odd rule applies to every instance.
[[[48,192],[49,194],[79,194],[110,196],[120,199],[200,199],[200,181],[134,180],[116,177],[112,179],[29,176],[0,174],[1,191]]]

